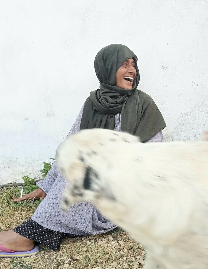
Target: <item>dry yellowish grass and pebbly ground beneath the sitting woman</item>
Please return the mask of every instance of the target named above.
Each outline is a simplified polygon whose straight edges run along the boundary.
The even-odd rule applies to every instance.
[[[35,211],[36,202],[27,206],[12,206],[9,196],[16,188],[0,189],[0,231],[20,225]],[[65,239],[57,251],[40,245],[40,253],[28,261],[25,258],[0,258],[0,268],[18,269],[94,269],[141,268],[145,251],[120,228],[99,236]]]

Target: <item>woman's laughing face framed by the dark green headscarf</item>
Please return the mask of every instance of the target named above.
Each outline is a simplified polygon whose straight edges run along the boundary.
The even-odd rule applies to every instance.
[[[131,90],[135,77],[135,62],[132,58],[129,58],[116,72],[116,86],[123,89]]]

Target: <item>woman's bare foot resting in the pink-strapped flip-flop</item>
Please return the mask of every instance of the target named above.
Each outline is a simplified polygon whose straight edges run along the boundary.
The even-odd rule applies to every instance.
[[[0,244],[12,251],[29,251],[35,247],[35,241],[12,230],[0,232]]]

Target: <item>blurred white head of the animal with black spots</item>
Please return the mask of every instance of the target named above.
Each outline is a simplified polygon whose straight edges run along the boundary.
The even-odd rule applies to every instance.
[[[122,145],[136,142],[136,136],[105,129],[83,130],[63,142],[56,156],[58,167],[69,180],[62,208],[67,210],[79,201],[115,200],[107,181],[112,165],[109,156]]]

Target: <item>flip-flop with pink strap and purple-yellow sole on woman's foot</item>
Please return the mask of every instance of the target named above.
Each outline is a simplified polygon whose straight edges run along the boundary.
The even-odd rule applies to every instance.
[[[0,244],[0,257],[3,258],[12,258],[12,257],[27,257],[36,255],[39,252],[39,247],[35,246],[34,249],[29,251],[12,251],[9,249],[6,249]]]

